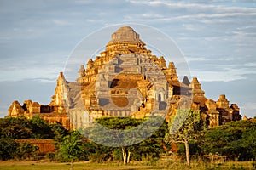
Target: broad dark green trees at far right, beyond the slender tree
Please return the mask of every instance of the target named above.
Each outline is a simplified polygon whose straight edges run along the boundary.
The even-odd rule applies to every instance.
[[[240,161],[256,158],[256,123],[251,121],[229,122],[207,129],[204,151],[206,154],[233,156]]]

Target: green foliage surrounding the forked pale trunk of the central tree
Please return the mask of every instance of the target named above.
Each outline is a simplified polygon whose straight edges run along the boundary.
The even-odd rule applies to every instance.
[[[142,160],[142,157],[148,156],[158,158],[160,157],[160,153],[164,152],[164,148],[167,147],[164,139],[168,132],[168,125],[160,116],[152,116],[150,119],[103,117],[97,119],[96,122],[101,124],[101,127],[96,125],[98,127],[89,127],[83,131],[85,136],[87,135],[93,141],[100,143],[94,143],[95,150],[90,153],[90,158],[93,161],[121,160],[124,151],[128,161],[129,153],[131,154],[131,160]],[[113,133],[106,131],[106,128],[123,131],[114,136]],[[131,131],[127,133],[129,129]],[[139,142],[132,144],[134,140]],[[107,144],[111,142],[113,144],[111,146],[115,146],[114,144],[116,144],[118,148],[102,146],[101,144],[104,144],[105,141]],[[120,146],[120,144],[125,144],[125,146]]]

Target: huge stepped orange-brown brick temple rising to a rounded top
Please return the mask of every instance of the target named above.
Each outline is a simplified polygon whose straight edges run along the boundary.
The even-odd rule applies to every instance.
[[[191,82],[183,77],[180,82],[173,62],[166,65],[166,59],[151,54],[136,31],[122,26],[99,56],[90,59],[86,68],[80,66],[76,82],[68,82],[60,73],[49,105],[14,101],[9,116],[40,116],[67,128],[81,128],[102,116],[159,114],[168,121],[177,109],[189,107],[201,112],[208,127],[241,120],[238,106],[230,105],[224,94],[218,101],[204,94],[196,77]]]

